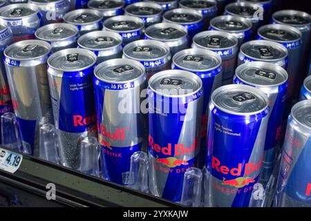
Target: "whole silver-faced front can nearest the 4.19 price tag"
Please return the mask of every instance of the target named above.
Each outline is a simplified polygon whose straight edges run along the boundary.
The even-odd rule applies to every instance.
[[[39,125],[53,124],[46,74],[50,44],[26,40],[4,50],[12,104],[17,116],[23,153],[39,157]]]

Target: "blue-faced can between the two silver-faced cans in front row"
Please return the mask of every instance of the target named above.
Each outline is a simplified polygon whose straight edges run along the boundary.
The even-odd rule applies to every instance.
[[[48,83],[59,157],[63,166],[79,169],[82,137],[96,137],[93,66],[90,50],[69,48],[48,58]]]

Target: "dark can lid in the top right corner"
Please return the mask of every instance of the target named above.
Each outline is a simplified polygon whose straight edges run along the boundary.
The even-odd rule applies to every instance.
[[[274,12],[272,19],[277,23],[290,26],[308,26],[311,23],[311,15],[298,10],[281,10]]]

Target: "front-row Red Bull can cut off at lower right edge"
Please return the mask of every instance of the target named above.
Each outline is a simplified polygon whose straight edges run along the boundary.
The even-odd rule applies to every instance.
[[[276,206],[311,206],[311,101],[304,100],[292,107],[288,117],[276,186]]]

